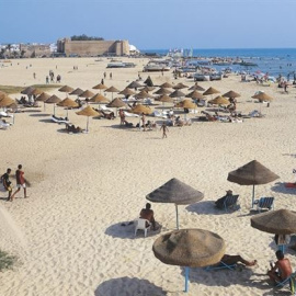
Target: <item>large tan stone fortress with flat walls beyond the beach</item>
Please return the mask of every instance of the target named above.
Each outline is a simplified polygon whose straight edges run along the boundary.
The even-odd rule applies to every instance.
[[[66,56],[129,55],[128,41],[57,41],[57,53]]]

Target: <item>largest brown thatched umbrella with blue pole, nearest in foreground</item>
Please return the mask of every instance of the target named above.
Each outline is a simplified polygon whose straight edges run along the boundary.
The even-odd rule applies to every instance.
[[[155,257],[171,265],[185,266],[185,292],[189,292],[190,267],[204,267],[220,262],[225,254],[224,239],[204,229],[182,229],[164,234],[153,246]]]

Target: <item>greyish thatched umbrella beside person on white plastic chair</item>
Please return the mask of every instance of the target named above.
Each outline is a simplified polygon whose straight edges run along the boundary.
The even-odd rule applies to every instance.
[[[204,194],[173,178],[149,193],[146,198],[153,203],[173,203],[175,205],[177,229],[179,229],[178,205],[200,202],[204,198]]]

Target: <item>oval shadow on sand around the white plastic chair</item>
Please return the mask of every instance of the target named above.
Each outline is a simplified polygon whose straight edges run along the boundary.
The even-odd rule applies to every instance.
[[[160,234],[162,226],[158,223],[156,224],[157,224],[157,230],[148,230],[147,238],[155,237]],[[113,238],[122,238],[122,239],[143,239],[144,238],[143,230],[138,230],[137,236],[135,237],[135,223],[133,220],[111,225],[109,228],[106,228],[105,234]]]

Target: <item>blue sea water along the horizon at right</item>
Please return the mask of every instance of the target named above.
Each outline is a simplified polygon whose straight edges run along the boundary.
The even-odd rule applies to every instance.
[[[156,53],[166,56],[169,49],[143,49],[141,53]],[[257,64],[258,66],[239,66],[231,65],[234,71],[261,71],[270,76],[287,77],[288,73],[293,79],[296,72],[296,48],[230,48],[230,49],[193,49],[193,57],[230,57],[240,58],[244,61]],[[226,66],[213,66],[219,70]]]

